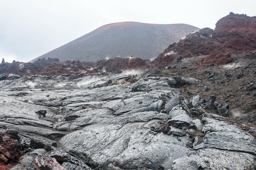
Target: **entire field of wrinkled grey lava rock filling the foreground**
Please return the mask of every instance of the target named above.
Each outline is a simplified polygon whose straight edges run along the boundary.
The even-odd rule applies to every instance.
[[[21,155],[12,170],[253,169],[254,137],[205,110],[225,115],[227,104],[181,99],[174,86],[193,78],[140,76],[0,81],[0,133],[16,140]]]

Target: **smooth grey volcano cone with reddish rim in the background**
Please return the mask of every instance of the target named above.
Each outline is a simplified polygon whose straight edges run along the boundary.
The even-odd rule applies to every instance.
[[[188,24],[145,24],[139,22],[118,22],[107,24],[58,47],[39,58],[58,58],[96,62],[114,57],[157,57],[169,44],[179,41],[199,28]]]

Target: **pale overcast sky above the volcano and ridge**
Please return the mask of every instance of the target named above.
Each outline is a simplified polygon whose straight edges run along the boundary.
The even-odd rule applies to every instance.
[[[214,29],[229,12],[255,16],[255,7],[256,0],[0,0],[0,59],[29,62],[114,22]]]

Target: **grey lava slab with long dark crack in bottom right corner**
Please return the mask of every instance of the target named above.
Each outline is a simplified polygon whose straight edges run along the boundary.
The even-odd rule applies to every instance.
[[[194,142],[188,155],[173,161],[173,170],[252,169],[256,141],[237,126],[205,118],[204,137]]]

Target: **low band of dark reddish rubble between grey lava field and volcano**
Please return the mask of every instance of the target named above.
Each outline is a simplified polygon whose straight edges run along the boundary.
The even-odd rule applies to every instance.
[[[0,64],[0,80],[7,79],[4,72],[10,70],[10,73],[20,76],[38,74],[38,75],[62,75],[62,74],[81,74],[81,73],[121,73],[123,70],[131,69],[146,69],[149,68],[148,60],[135,58],[129,60],[128,58],[115,57],[109,60],[101,60],[96,63],[93,62],[79,62],[66,61],[59,62],[56,59],[48,58],[47,60],[38,60],[35,63],[21,63],[21,64]],[[11,69],[17,67],[16,69]]]

